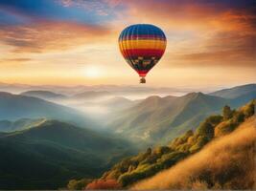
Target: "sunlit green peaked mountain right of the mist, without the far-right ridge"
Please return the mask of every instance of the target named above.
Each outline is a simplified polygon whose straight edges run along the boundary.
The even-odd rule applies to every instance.
[[[217,113],[224,104],[229,101],[217,96],[191,93],[186,96],[151,96],[141,101],[136,106],[123,111],[123,116],[117,117],[108,126],[115,128],[117,132],[133,135],[142,135],[141,138],[150,141],[158,141],[158,138],[169,137],[167,132],[172,132],[175,127],[180,127],[183,132],[186,128],[198,126],[201,118]],[[198,119],[195,119],[195,115]],[[194,121],[192,120],[194,118]],[[187,124],[186,121],[193,123]],[[181,130],[177,129],[180,133]],[[148,133],[148,135],[146,135]],[[144,135],[144,136],[143,136]],[[177,136],[174,133],[172,137]]]

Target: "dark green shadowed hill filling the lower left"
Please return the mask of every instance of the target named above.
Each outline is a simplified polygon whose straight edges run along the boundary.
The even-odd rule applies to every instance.
[[[96,178],[131,155],[119,138],[47,120],[0,135],[0,189],[57,189],[67,180]]]

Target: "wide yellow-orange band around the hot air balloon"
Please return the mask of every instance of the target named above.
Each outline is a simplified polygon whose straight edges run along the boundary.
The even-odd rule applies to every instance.
[[[119,42],[122,49],[165,49],[163,40],[123,40]]]

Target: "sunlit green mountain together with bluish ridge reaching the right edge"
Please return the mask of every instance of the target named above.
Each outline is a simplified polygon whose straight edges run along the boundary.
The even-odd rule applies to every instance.
[[[233,94],[236,96],[230,96]],[[188,129],[196,128],[203,118],[220,113],[224,105],[237,108],[253,98],[256,98],[256,84],[209,95],[190,93],[185,96],[150,96],[118,112],[108,121],[107,127],[132,140],[164,143]]]

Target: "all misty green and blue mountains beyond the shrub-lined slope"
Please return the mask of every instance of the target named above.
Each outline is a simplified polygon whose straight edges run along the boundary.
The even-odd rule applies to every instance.
[[[99,120],[55,102],[58,96],[0,93],[0,189],[57,189],[68,180],[98,178],[138,147],[169,142],[224,105],[237,108],[256,98],[256,85],[211,94],[105,99],[98,103],[121,109],[101,121],[105,130],[99,129]]]

